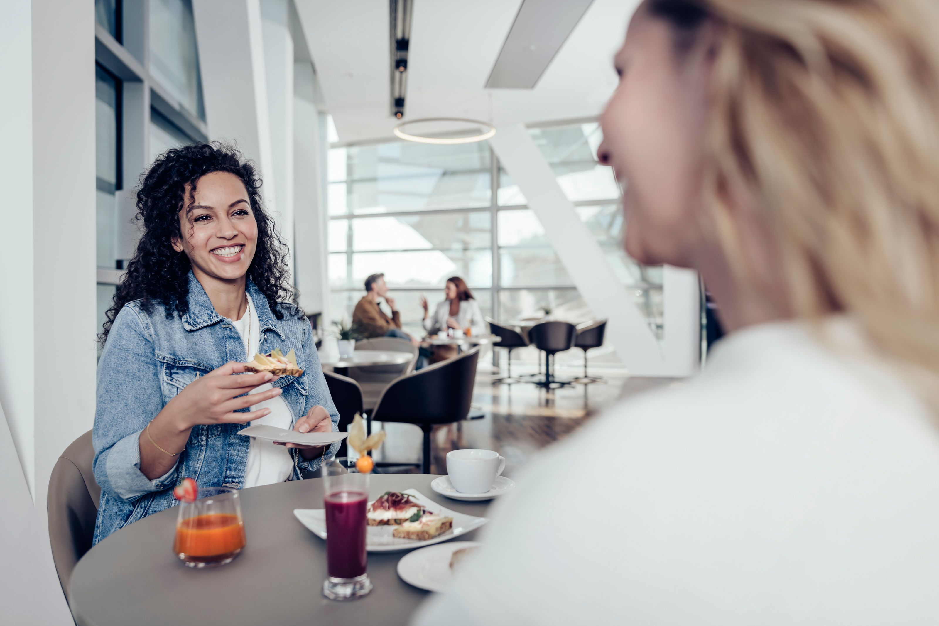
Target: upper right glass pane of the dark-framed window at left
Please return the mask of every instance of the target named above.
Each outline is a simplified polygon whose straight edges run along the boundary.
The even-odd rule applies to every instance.
[[[192,115],[205,119],[192,0],[150,0],[150,74]]]

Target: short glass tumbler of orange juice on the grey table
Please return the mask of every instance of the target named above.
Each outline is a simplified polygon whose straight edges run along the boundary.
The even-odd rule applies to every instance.
[[[214,567],[239,556],[245,537],[236,489],[200,489],[198,499],[182,501],[178,509],[173,551],[187,566]]]

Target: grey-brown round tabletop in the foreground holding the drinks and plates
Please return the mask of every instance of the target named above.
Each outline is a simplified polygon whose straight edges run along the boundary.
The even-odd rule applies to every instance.
[[[374,475],[370,496],[417,489],[453,511],[483,516],[489,502],[439,496],[437,476]],[[176,509],[155,513],[92,548],[71,575],[71,610],[79,626],[309,626],[404,624],[429,593],[398,577],[405,552],[369,553],[375,588],[353,602],[323,597],[326,542],[303,527],[294,509],[323,506],[322,479],[281,482],[240,492],[248,544],[232,563],[193,570],[173,553]],[[473,541],[476,532],[457,541]]]

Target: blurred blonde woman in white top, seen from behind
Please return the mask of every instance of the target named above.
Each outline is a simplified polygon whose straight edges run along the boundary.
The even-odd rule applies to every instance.
[[[416,623],[939,623],[937,32],[935,0],[639,8],[625,247],[730,334],[527,467]]]

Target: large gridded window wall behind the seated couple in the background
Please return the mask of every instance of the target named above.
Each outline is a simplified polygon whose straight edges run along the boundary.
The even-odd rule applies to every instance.
[[[596,160],[599,125],[535,128],[531,136],[661,338],[661,268],[640,266],[622,250],[619,187]],[[338,147],[330,151],[328,171],[333,316],[349,317],[365,277],[381,271],[406,329],[415,334],[421,333],[420,296],[433,306],[452,275],[463,277],[484,313],[502,322],[546,313],[574,323],[593,319],[524,194],[485,143]],[[514,354],[536,355],[533,349]],[[582,355],[572,351],[559,359]],[[616,362],[611,348],[592,351],[591,359]]]

